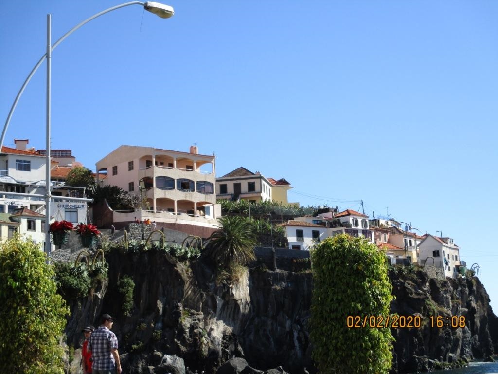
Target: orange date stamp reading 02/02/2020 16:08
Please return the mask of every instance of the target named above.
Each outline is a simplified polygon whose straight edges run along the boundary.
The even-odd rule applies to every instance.
[[[418,329],[426,324],[436,328],[464,328],[467,324],[465,316],[399,316],[397,314],[388,316],[347,316],[348,328],[400,328]]]

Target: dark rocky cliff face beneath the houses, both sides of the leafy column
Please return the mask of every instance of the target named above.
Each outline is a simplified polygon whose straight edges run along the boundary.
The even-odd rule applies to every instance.
[[[282,366],[291,374],[303,373],[304,367],[314,372],[307,330],[311,273],[256,267],[237,283],[217,285],[215,274],[202,261],[189,266],[153,252],[115,251],[106,257],[108,282],[71,306],[66,333],[75,348],[81,329],[101,313],[110,313],[117,319],[113,331],[126,373],[158,373],[153,368],[164,354],[180,356],[186,367],[199,373],[215,373],[234,356],[259,370]],[[116,288],[124,275],[135,282],[130,316],[122,313]],[[497,352],[497,317],[477,278],[440,281],[421,271],[404,278],[391,274],[393,313],[465,314],[468,327],[431,329],[424,317],[420,329],[393,329],[399,373],[430,367],[429,359],[451,361],[464,354],[481,358]]]

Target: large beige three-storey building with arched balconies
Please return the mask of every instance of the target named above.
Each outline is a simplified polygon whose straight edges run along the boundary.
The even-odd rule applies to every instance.
[[[221,215],[216,204],[215,156],[200,155],[197,147],[190,152],[153,147],[120,146],[97,162],[98,173],[107,172],[102,185],[118,186],[140,194],[143,180],[150,208],[143,217],[158,222],[177,221],[212,227]],[[140,212],[138,212],[139,214]],[[132,221],[136,212],[115,212],[114,221]]]

